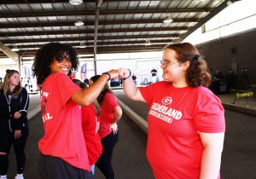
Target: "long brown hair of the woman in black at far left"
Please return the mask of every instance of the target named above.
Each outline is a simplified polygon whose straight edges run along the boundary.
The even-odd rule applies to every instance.
[[[11,78],[11,76],[15,73],[18,73],[20,75],[20,72],[18,72],[16,70],[6,70],[4,81],[3,81],[3,84],[1,87],[1,89],[3,89],[4,95],[6,95],[9,92],[9,78]],[[20,92],[21,92],[21,84],[19,82],[19,84],[17,86],[15,86],[14,94],[20,95]]]

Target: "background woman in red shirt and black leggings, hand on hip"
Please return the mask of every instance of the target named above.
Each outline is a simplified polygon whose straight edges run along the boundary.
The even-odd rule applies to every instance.
[[[96,75],[90,78],[90,86],[94,86],[100,77],[100,75]],[[96,162],[96,166],[102,171],[106,179],[114,179],[112,167],[113,147],[119,138],[117,122],[122,116],[122,109],[119,107],[108,84],[105,84],[101,94],[97,97],[97,101],[101,106],[99,132],[102,137],[103,151]]]

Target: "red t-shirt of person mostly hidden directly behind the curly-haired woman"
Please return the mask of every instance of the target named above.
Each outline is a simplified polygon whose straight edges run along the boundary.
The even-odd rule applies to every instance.
[[[102,142],[98,130],[100,127],[100,118],[96,116],[96,109],[91,104],[88,107],[82,107],[82,128],[86,148],[88,152],[89,164],[95,165],[97,159],[102,154]]]

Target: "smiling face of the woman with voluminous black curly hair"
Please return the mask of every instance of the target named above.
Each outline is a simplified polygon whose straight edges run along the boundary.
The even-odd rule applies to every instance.
[[[53,61],[50,65],[51,73],[63,72],[67,74],[72,67],[72,62],[67,60],[66,58],[62,59],[62,61]]]

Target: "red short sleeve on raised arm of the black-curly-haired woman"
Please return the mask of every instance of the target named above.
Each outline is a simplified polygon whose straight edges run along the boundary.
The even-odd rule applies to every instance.
[[[74,92],[80,90],[77,84],[74,84],[73,81],[64,73],[59,73],[56,76],[55,87],[59,92],[59,100],[61,105],[65,105],[67,101],[71,98]]]

